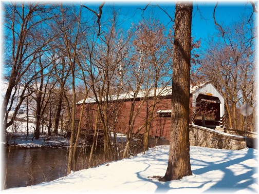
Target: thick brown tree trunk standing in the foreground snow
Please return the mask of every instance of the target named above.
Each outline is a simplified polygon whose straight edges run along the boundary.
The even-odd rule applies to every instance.
[[[161,181],[192,175],[189,142],[192,9],[192,3],[176,3],[170,152],[167,172]]]

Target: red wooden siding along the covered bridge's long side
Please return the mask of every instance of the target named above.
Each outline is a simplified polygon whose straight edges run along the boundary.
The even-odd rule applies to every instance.
[[[136,117],[133,132],[136,132],[141,128],[145,122],[147,117],[147,111],[151,110],[152,100],[148,101],[137,101],[135,104],[136,113],[138,107],[139,112]],[[142,103],[142,105],[141,105]],[[125,102],[114,102],[108,104],[108,117],[109,117],[109,125],[115,125],[115,129],[117,133],[126,133],[129,125],[130,118],[130,110],[131,110],[131,101]],[[77,119],[79,119],[80,111],[82,104],[77,106]],[[149,107],[149,108],[147,108]],[[169,110],[171,109],[171,99],[162,99],[159,100],[155,106],[154,111],[154,120],[152,121],[150,135],[157,137],[164,137],[169,140],[170,137],[170,128],[171,128],[171,116],[169,117],[161,117],[161,114],[157,113],[158,110]],[[115,114],[117,112],[117,115]],[[84,113],[82,118],[82,129],[83,130],[94,130],[95,122],[96,122],[96,113],[97,113],[97,105],[95,103],[85,104]],[[115,122],[116,121],[116,122]],[[101,123],[98,124],[98,128],[101,129]],[[143,127],[139,134],[144,133],[145,128]],[[90,132],[90,131],[89,131]]]

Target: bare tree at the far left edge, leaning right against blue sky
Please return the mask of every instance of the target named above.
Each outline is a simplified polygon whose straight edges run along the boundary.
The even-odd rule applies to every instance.
[[[23,79],[27,71],[31,71],[33,64],[46,49],[46,45],[53,40],[54,34],[47,32],[46,21],[55,17],[55,14],[46,14],[52,10],[51,6],[44,6],[41,3],[9,3],[5,6],[5,44],[11,45],[6,48],[4,75],[8,81],[8,87],[2,104],[3,129],[12,125],[17,111],[26,98],[25,91],[30,83],[39,76],[47,66],[42,66],[29,79]],[[50,65],[50,64],[48,64]],[[17,93],[17,86],[23,83],[21,93]],[[18,102],[14,106],[14,101]],[[7,120],[9,112],[14,110],[10,121]]]

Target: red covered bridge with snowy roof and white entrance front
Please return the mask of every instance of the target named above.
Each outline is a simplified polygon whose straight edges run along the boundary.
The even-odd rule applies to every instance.
[[[155,137],[170,138],[171,128],[171,98],[172,87],[158,88],[159,94],[155,105],[153,120],[151,123],[150,135]],[[134,95],[133,92],[122,93],[120,95],[110,95],[108,103],[109,127],[116,129],[117,133],[126,133],[129,120],[130,110],[135,96],[136,120],[133,126],[133,132],[139,131],[143,134],[145,124],[149,112],[151,111],[151,103],[154,96],[154,90],[149,93],[141,91]],[[77,118],[82,107],[83,100],[77,103]],[[104,107],[102,107],[104,108]],[[206,126],[215,129],[216,127],[224,127],[224,98],[216,90],[211,83],[204,83],[197,86],[191,86],[190,89],[190,123]],[[88,98],[85,101],[83,120],[81,124],[82,130],[93,130],[96,123],[97,103],[95,98]],[[98,128],[101,129],[99,122]]]

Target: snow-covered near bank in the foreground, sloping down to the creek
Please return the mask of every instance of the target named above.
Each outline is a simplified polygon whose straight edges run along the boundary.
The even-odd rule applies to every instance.
[[[131,159],[71,172],[69,176],[3,193],[247,193],[258,189],[258,152],[255,149],[221,150],[191,147],[193,176],[159,182],[167,169],[169,146],[151,148]]]

